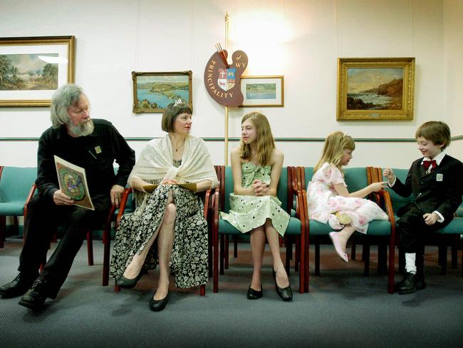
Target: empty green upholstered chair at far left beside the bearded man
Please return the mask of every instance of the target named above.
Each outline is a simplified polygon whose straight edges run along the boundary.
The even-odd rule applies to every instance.
[[[4,166],[0,173],[0,247],[4,247],[6,217],[13,216],[18,229],[17,218],[24,216],[24,207],[36,180],[37,168]]]

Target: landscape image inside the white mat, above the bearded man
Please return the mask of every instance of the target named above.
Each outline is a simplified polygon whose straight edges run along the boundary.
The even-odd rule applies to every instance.
[[[0,91],[56,90],[58,64],[47,63],[47,57],[58,53],[0,55]]]

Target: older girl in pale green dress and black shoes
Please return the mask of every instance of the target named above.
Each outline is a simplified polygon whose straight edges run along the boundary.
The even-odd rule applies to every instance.
[[[289,215],[276,198],[284,155],[275,148],[267,118],[258,112],[247,113],[241,120],[241,145],[231,151],[234,193],[230,195],[229,213],[222,218],[241,232],[250,232],[254,262],[247,298],[262,297],[261,268],[265,241],[274,259],[276,292],[284,301],[293,298],[288,275],[281,261],[279,235],[283,236]]]

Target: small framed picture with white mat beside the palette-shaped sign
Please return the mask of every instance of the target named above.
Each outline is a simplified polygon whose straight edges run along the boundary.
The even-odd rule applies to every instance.
[[[284,106],[283,76],[241,76],[240,107]]]

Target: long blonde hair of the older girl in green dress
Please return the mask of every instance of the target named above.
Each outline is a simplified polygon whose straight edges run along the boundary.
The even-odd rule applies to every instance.
[[[241,119],[241,124],[246,120],[251,120],[254,127],[256,127],[257,160],[260,165],[268,165],[271,161],[271,153],[275,148],[274,136],[271,134],[269,120],[267,120],[263,113],[257,111],[246,113]],[[244,160],[251,159],[251,146],[245,144],[242,139],[239,156]]]

